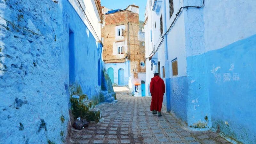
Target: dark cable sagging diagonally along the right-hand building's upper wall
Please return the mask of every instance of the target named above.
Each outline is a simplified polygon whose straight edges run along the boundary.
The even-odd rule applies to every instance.
[[[164,36],[167,35],[167,34],[171,31],[173,25],[175,24],[176,19],[178,18],[178,16],[180,15],[180,13],[183,11],[184,8],[187,8],[187,9],[188,9],[188,8],[197,8],[197,9],[199,9],[199,8],[201,8],[201,7],[204,7],[204,0],[203,0],[203,5],[202,5],[202,6],[183,6],[183,7],[180,7],[180,10],[177,12],[177,14],[175,14],[176,17],[175,17],[174,20],[172,21],[171,26],[170,26],[169,29],[166,31],[166,33],[164,33],[164,34],[161,36],[162,41],[161,41],[160,44],[158,45],[156,51],[155,51],[155,46],[154,46],[153,51],[149,54],[149,56],[148,56],[145,60],[147,60],[147,59],[149,59],[150,57],[152,57],[152,56],[155,55],[155,53],[158,51],[159,47],[161,46],[161,44],[162,44],[163,41],[164,41]],[[152,54],[153,54],[153,55],[152,55]]]

